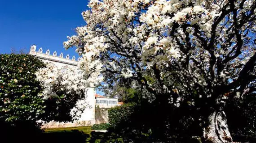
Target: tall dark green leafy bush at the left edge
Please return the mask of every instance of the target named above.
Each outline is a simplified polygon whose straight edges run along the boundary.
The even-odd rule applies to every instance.
[[[31,55],[0,55],[0,120],[36,121],[44,113],[35,72],[44,63]]]

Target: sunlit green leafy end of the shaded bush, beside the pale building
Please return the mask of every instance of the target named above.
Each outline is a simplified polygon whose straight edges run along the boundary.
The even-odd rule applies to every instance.
[[[129,122],[129,117],[134,113],[136,105],[136,103],[130,102],[110,108],[108,111],[110,125],[117,127],[121,122]]]

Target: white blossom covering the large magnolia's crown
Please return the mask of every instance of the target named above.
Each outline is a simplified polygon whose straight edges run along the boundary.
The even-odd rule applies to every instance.
[[[234,5],[239,3],[241,1],[238,0]],[[250,10],[253,3],[255,0],[245,0],[243,10],[238,11],[238,16]],[[88,4],[90,10],[82,13],[87,25],[78,27],[77,35],[68,37],[69,40],[64,42],[64,46],[77,47],[77,52],[83,55],[80,68],[91,81],[103,80],[103,77],[107,80],[109,75],[102,74],[105,71],[116,74],[115,78],[137,77],[139,76],[137,72],[144,69],[158,67],[161,71],[189,60],[190,65],[180,72],[180,78],[185,81],[184,75],[186,75],[193,77],[194,80],[185,81],[184,87],[195,84],[204,87],[209,84],[206,79],[201,79],[200,72],[206,76],[217,74],[215,77],[220,77],[223,81],[232,79],[234,77],[229,76],[231,74],[229,69],[247,63],[254,54],[254,51],[247,50],[252,47],[243,47],[241,56],[235,58],[233,62],[228,61],[230,63],[226,63],[222,71],[219,73],[207,71],[212,66],[210,60],[213,55],[217,59],[224,59],[223,57],[230,54],[232,48],[237,46],[234,42],[235,38],[230,39],[233,44],[229,48],[217,48],[214,54],[205,46],[211,44],[209,39],[212,38],[212,25],[221,17],[223,9],[226,8],[225,4],[230,2],[228,0],[223,2],[219,0],[90,0]],[[232,19],[232,14],[222,16],[219,21],[220,26],[216,27],[216,41],[220,43],[230,36],[225,31],[232,28],[230,23],[233,21],[227,22],[227,17]],[[226,26],[221,26],[224,24]],[[246,24],[241,26],[242,30],[246,28],[248,28]],[[219,46],[218,43],[216,46]],[[195,69],[200,66],[204,69]],[[127,70],[129,68],[130,70]],[[238,73],[240,70],[234,72]],[[164,79],[164,76],[168,75],[162,74],[160,79]],[[212,79],[211,84],[220,85],[221,82]],[[152,88],[150,84],[147,86]],[[211,97],[211,95],[207,96]]]

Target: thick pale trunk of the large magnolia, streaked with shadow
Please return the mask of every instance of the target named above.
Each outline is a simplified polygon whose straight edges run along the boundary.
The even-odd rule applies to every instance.
[[[224,111],[210,114],[207,127],[203,129],[203,137],[207,143],[232,143]]]

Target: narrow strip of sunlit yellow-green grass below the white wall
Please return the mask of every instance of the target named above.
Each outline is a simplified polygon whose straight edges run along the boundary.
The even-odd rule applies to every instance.
[[[44,133],[55,133],[55,132],[72,132],[78,130],[84,132],[84,134],[91,133],[91,126],[78,126],[78,127],[66,127],[66,128],[48,128],[44,130]]]

